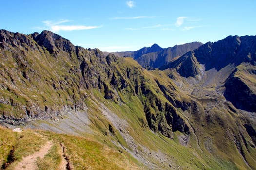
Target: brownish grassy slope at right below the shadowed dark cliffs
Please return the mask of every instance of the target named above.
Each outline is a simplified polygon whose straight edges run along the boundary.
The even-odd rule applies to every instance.
[[[238,68],[242,69],[243,66]],[[253,70],[254,68],[250,69]],[[205,75],[210,75],[209,72],[206,72]],[[203,85],[209,77],[183,79],[177,75],[175,70],[165,70],[165,73],[174,77],[183,91],[193,89],[187,91],[187,94],[191,94],[189,95],[191,100],[194,101],[191,115],[187,118],[193,126],[198,137],[198,145],[203,153],[213,155],[217,159],[230,160],[234,162],[236,169],[246,170],[249,169],[249,166],[254,169],[256,151],[253,145],[250,146],[253,143],[252,138],[246,133],[243,126],[244,119],[247,118],[221,95],[221,85],[217,86],[217,84],[212,83],[205,88]],[[254,84],[253,79],[255,78],[248,71],[238,71],[236,75],[242,75],[241,78],[247,85],[254,88],[252,84]],[[215,79],[216,81],[213,82],[221,80],[217,77]]]

